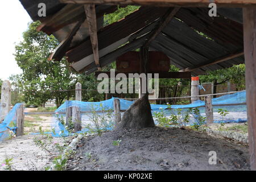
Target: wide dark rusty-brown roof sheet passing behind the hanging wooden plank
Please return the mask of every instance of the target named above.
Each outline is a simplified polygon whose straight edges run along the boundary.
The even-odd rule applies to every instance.
[[[134,11],[134,13],[127,15],[124,19],[101,28],[98,31],[99,50],[126,38],[147,26],[147,24],[154,22],[160,16],[163,16],[166,10],[167,8],[163,7],[141,7],[139,10]],[[85,40],[80,46],[69,50],[66,54],[68,61],[77,62],[86,56],[92,55],[93,51],[89,48],[90,46],[90,40]]]

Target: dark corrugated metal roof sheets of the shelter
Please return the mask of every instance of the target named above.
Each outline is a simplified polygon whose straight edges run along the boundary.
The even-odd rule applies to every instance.
[[[47,5],[47,18],[56,15],[58,12],[72,9],[72,6],[82,6],[67,6],[57,0],[20,0],[20,2],[33,20],[40,19],[36,11],[40,2]],[[48,27],[44,27],[42,30],[48,33],[51,30],[57,30],[53,32],[53,35],[60,42],[65,40],[76,22],[81,20],[82,16],[85,16],[84,11],[79,7],[77,8],[79,10],[75,15],[68,11],[67,13],[71,15],[63,17],[59,24],[63,27],[57,27],[56,23],[48,23]],[[121,53],[141,47],[144,40],[147,39],[146,34],[154,30],[159,19],[168,10],[167,7],[142,7],[137,12],[127,16],[126,19],[110,24],[108,27],[103,27],[104,13],[111,13],[115,8],[105,5],[96,7],[100,63],[102,66],[115,61]],[[208,10],[207,8],[181,8],[175,15],[176,18],[172,19],[162,33],[150,44],[150,48],[166,53],[170,57],[171,63],[180,69],[204,64],[209,60],[242,51],[242,10],[218,9],[218,17],[209,17]],[[40,20],[44,23],[47,22],[47,18]],[[141,21],[141,23],[137,23],[138,21]],[[138,24],[143,24],[143,26],[139,27]],[[135,26],[138,26],[138,28],[135,28]],[[200,35],[200,32],[203,32],[204,35]],[[138,39],[141,36],[144,37]],[[104,42],[104,40],[110,42]],[[129,46],[122,47],[123,44],[128,42],[130,42]],[[73,37],[71,45],[67,49],[67,55],[69,61],[71,61],[71,67],[76,71],[91,73],[97,70],[93,60],[86,20]],[[196,69],[192,74],[201,75],[208,70],[228,68],[233,64],[240,63],[244,63],[243,56]]]

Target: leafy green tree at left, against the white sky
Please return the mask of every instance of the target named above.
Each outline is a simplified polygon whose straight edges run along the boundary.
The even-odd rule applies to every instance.
[[[60,62],[47,61],[59,42],[51,35],[36,31],[40,22],[31,23],[23,33],[23,41],[15,46],[15,60],[23,73],[19,81],[27,104],[44,105],[55,99],[60,106],[67,92],[74,89],[76,75],[68,68],[65,59]]]

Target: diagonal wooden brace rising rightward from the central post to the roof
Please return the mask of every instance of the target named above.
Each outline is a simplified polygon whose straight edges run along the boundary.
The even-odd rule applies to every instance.
[[[154,31],[152,31],[150,38],[147,40],[145,43],[145,46],[149,46],[150,43],[162,32],[164,27],[167,26],[167,24],[174,18],[175,14],[177,11],[180,10],[180,7],[175,7],[174,9],[171,8],[170,10],[167,11],[166,15],[163,16],[163,18],[159,22],[159,26],[155,28]]]

